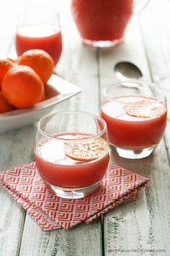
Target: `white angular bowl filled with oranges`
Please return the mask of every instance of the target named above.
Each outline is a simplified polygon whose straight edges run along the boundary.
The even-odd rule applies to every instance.
[[[18,61],[0,59],[0,133],[34,123],[81,88],[53,73],[53,59],[39,49]]]

